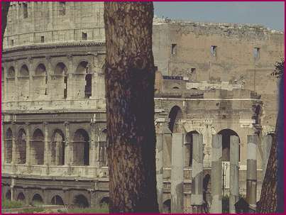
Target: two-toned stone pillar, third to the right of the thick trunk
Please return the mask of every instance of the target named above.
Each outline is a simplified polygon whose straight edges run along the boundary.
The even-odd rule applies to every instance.
[[[203,189],[203,143],[202,134],[194,133],[192,135],[192,211],[202,213]],[[194,210],[193,210],[194,209]]]

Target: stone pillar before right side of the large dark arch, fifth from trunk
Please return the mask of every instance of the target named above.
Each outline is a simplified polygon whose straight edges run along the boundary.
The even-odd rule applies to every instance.
[[[230,143],[230,179],[229,179],[229,212],[236,213],[234,204],[238,201],[239,184],[238,184],[238,160],[239,160],[239,138],[231,136]]]

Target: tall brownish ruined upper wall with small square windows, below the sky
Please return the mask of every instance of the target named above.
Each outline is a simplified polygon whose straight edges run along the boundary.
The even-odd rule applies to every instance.
[[[284,56],[284,33],[263,26],[155,19],[153,54],[162,75],[188,77],[189,88],[233,84],[260,94],[262,124],[275,126],[277,79],[270,74]]]

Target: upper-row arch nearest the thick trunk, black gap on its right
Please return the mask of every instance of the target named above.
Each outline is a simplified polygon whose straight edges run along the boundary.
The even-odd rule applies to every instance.
[[[89,99],[92,96],[92,74],[87,61],[79,62],[75,72],[75,79],[77,82],[76,97]]]

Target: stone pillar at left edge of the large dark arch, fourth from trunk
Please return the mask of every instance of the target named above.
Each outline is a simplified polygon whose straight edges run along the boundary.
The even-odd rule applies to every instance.
[[[211,213],[221,214],[221,156],[222,156],[222,136],[216,134],[212,136],[211,151]]]

